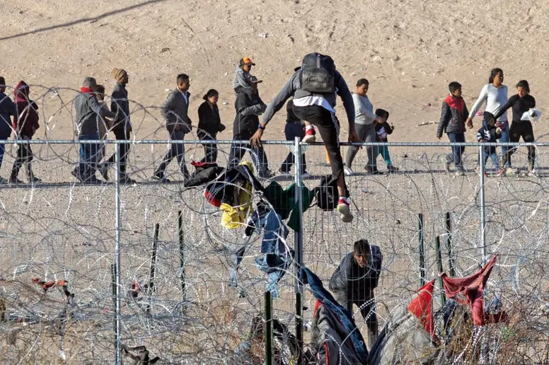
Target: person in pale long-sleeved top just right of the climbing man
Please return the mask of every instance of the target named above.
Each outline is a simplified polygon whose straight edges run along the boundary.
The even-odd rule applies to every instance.
[[[368,92],[369,82],[366,79],[357,81],[357,91],[352,94],[354,103],[354,127],[357,130],[357,135],[364,142],[376,141],[376,123],[381,120],[374,113],[374,106],[371,105],[370,99],[366,95]],[[383,122],[383,121],[381,121]],[[359,151],[358,146],[349,146],[347,154],[345,154],[345,175],[354,175],[352,170],[352,161],[354,156],[357,156]],[[366,153],[368,154],[368,163],[366,163],[367,173],[378,173],[376,156],[374,155],[374,146],[367,146]]]

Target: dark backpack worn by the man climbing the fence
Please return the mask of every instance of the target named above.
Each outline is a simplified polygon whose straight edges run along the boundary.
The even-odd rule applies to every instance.
[[[309,53],[301,65],[301,90],[309,93],[335,93],[335,63],[332,57]]]

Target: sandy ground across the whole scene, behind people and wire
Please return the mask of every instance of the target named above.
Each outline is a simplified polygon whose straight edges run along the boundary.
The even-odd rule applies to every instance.
[[[495,0],[482,4],[125,0],[115,5],[108,1],[6,1],[0,14],[0,51],[4,54],[0,74],[8,85],[14,86],[20,79],[34,85],[32,95],[40,105],[42,122],[37,138],[71,139],[73,116],[68,107],[83,77],[94,76],[110,90],[114,85],[110,70],[123,67],[131,78],[127,88],[134,100],[135,137],[164,139],[157,107],[174,87],[175,75],[185,72],[191,76],[192,120],[197,122],[202,94],[217,88],[221,117],[228,126],[219,137],[231,139],[231,85],[239,58],[248,55],[254,59],[257,66],[253,74],[264,80],[260,92],[268,103],[304,54],[325,52],[333,56],[349,86],[359,78],[369,79],[374,107],[391,112],[396,127],[391,141],[435,141],[436,126],[418,124],[438,120],[447,84],[460,81],[471,106],[495,66],[505,71],[509,96],[516,81],[528,79],[539,109],[545,112],[548,97],[541,91],[548,81],[548,50],[541,45],[548,36],[549,26],[543,18],[548,8],[548,4],[535,1],[502,7]],[[345,113],[338,108],[345,125]],[[274,118],[265,134],[267,139],[283,137],[284,117],[281,112]],[[473,132],[468,132],[469,141],[474,139]],[[538,123],[536,134],[548,132],[543,120]],[[346,133],[343,128],[342,139]],[[122,190],[125,290],[132,279],[148,277],[152,228],[161,223],[160,283],[151,299],[154,317],[144,315],[142,304],[125,298],[125,338],[132,344],[147,344],[170,363],[223,364],[222,359],[238,342],[236,338],[247,330],[253,308],[262,308],[265,279],[253,267],[259,243],[243,265],[242,286],[248,296],[236,300],[238,291],[226,286],[229,269],[220,247],[231,248],[241,232],[222,230],[219,216],[204,206],[200,191],[180,196],[178,183],[160,186],[147,182],[163,149],[135,146],[131,170],[140,184]],[[221,153],[221,161],[227,151],[225,148]],[[9,156],[13,152],[8,146],[3,176],[13,162]],[[4,208],[0,214],[0,274],[11,281],[4,285],[2,294],[11,308],[9,313],[17,318],[35,318],[38,313],[45,322],[40,327],[21,325],[24,335],[18,337],[16,347],[6,335],[8,327],[2,327],[6,335],[3,353],[13,363],[111,361],[109,270],[115,237],[114,187],[71,185],[70,163],[76,161],[73,146],[43,146],[35,152],[39,156],[37,175],[47,183],[34,190],[0,190]],[[267,153],[277,168],[287,149],[268,147]],[[357,204],[353,224],[344,226],[335,214],[316,208],[306,213],[305,262],[323,279],[328,279],[355,239],[366,236],[381,246],[385,271],[377,292],[380,323],[387,308],[401,303],[419,285],[415,214],[425,214],[429,275],[436,272],[432,245],[434,237],[444,233],[445,212],[452,212],[458,274],[473,271],[480,252],[478,176],[439,174],[440,157],[446,149],[402,147],[391,153],[395,165],[405,170],[402,175],[349,179]],[[475,153],[468,151],[468,168],[475,164]],[[545,151],[539,154],[541,166],[547,166]],[[357,157],[357,166],[364,164],[362,155]],[[188,148],[187,160],[193,156],[201,158],[202,149]],[[320,147],[308,150],[308,161],[311,173],[327,170]],[[516,165],[526,166],[524,153],[516,157]],[[316,181],[307,184],[313,187]],[[492,279],[504,294],[504,303],[517,295],[531,303],[548,301],[538,286],[547,279],[543,243],[548,190],[544,179],[490,177],[487,184],[489,252],[502,253],[501,265]],[[185,231],[185,243],[189,298],[194,304],[188,310],[191,314],[186,315],[180,315],[175,231],[178,210],[185,212],[190,227]],[[53,291],[47,298],[40,297],[33,286],[28,286],[34,276],[68,279],[76,293],[78,306],[63,338],[51,322],[62,308],[62,296]],[[292,284],[288,275],[281,284],[282,299],[275,304],[279,318],[290,324]],[[225,303],[222,313],[219,303]],[[310,294],[306,294],[306,303],[312,308]],[[306,319],[310,317],[309,310]],[[66,361],[59,351],[66,352]]]

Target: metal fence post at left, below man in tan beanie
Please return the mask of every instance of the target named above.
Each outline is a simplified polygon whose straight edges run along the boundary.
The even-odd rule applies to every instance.
[[[115,364],[122,364],[122,318],[120,310],[122,308],[122,298],[120,287],[122,285],[120,275],[120,243],[122,241],[122,219],[120,217],[120,144],[115,143],[115,163],[116,163],[116,182],[115,182],[115,209],[116,209],[116,244],[115,244],[115,279],[116,279],[116,356]]]

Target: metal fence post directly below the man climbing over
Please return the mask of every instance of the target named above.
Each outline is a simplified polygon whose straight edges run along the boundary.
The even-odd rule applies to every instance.
[[[296,276],[295,276],[295,285],[294,291],[296,294],[296,340],[298,343],[298,359],[297,364],[301,365],[303,362],[303,286],[301,285],[300,271],[301,266],[303,265],[303,183],[301,182],[301,145],[300,138],[296,137],[294,140],[294,155],[295,155],[295,184],[296,184],[296,202],[298,207],[298,220],[299,220],[299,229],[294,233],[294,252],[296,263]]]

